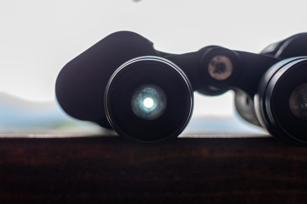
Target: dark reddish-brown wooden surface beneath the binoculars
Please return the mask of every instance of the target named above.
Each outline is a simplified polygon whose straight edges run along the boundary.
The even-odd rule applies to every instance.
[[[306,203],[307,148],[273,138],[0,138],[0,203]]]

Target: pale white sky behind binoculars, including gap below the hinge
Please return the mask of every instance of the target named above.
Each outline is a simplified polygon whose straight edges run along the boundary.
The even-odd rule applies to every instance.
[[[164,52],[216,44],[259,52],[307,31],[307,1],[97,0],[0,2],[0,92],[54,100],[57,73],[119,31],[138,32]],[[232,114],[233,95],[196,95],[194,114]],[[206,104],[206,107],[204,107]]]

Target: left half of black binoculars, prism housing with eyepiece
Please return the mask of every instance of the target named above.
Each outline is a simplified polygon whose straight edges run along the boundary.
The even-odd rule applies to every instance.
[[[193,111],[185,73],[133,32],[116,32],[68,62],[56,80],[66,113],[143,145],[177,137]]]

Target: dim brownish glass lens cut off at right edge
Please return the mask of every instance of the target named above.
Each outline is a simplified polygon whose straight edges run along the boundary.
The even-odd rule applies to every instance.
[[[291,112],[301,120],[307,120],[307,83],[296,87],[289,99]]]

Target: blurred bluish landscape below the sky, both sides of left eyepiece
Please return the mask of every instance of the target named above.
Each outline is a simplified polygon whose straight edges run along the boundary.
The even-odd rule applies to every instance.
[[[31,102],[15,96],[0,93],[0,136],[31,135],[112,135],[87,121],[79,121],[64,113],[55,101]],[[65,134],[63,134],[65,133]],[[183,136],[206,135],[255,135],[266,134],[262,128],[251,125],[239,115],[233,117],[193,118],[182,133]]]

